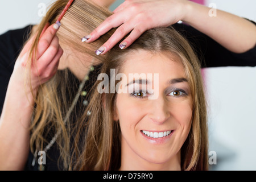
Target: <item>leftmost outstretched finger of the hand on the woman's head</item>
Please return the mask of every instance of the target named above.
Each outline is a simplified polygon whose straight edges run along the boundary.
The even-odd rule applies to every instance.
[[[106,34],[106,32],[110,31],[112,28],[120,26],[122,23],[127,21],[127,17],[121,13],[116,13],[104,20],[95,30],[93,30],[90,35],[85,36],[83,42],[86,43],[93,42],[100,38],[101,35]]]

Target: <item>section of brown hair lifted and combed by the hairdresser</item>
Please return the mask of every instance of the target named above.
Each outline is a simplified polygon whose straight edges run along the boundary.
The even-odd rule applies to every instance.
[[[55,23],[60,13],[64,10],[68,0],[58,0],[54,2],[42,22],[38,25],[36,30],[36,39],[31,47],[30,59],[28,63],[36,61],[36,49],[40,34],[47,23]],[[104,7],[97,6],[89,0],[75,0],[67,13],[61,20],[61,27],[57,32],[60,46],[67,51],[76,51],[79,55],[85,56],[85,62],[88,63],[92,59],[94,62],[102,61],[105,56],[97,56],[94,51],[106,42],[112,35],[113,31],[108,32],[101,36],[94,43],[86,44],[81,42],[81,36],[87,35],[92,32],[100,23],[102,23],[112,13]],[[33,56],[32,56],[33,55]],[[80,59],[81,56],[77,57]],[[82,61],[81,61],[82,62]],[[28,70],[30,70],[30,65]],[[85,64],[84,66],[88,67]],[[70,168],[71,148],[76,148],[78,144],[71,143],[70,138],[72,132],[72,125],[79,117],[79,111],[83,111],[82,107],[72,111],[71,115],[65,117],[71,108],[72,101],[79,89],[80,81],[72,74],[69,69],[57,71],[56,75],[45,84],[40,85],[38,93],[35,96],[35,109],[31,119],[31,138],[30,148],[31,151],[40,151],[51,141],[57,131],[61,131],[57,137],[56,144],[60,152],[60,169]],[[86,83],[86,85],[88,82]],[[87,90],[89,91],[89,90]],[[65,121],[64,121],[65,120]],[[79,152],[79,150],[73,150]],[[62,167],[61,167],[62,166]]]

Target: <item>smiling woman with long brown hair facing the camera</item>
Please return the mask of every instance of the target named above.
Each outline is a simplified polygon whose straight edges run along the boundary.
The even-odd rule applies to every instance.
[[[126,77],[105,86],[108,92],[98,92],[101,80],[94,85],[91,114],[82,118],[89,122],[78,126],[88,133],[75,168],[207,170],[203,81],[199,60],[187,40],[172,27],[148,30],[129,48],[113,49],[102,64],[101,72],[108,75],[104,81],[112,81],[113,69],[114,77],[120,73]],[[159,76],[132,78],[131,74]],[[117,85],[129,92],[110,92]],[[148,99],[156,92],[158,97]]]

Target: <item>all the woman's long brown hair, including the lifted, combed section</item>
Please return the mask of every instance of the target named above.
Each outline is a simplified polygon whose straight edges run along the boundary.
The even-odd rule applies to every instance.
[[[39,24],[38,36],[31,48],[30,61],[35,60],[32,53],[36,52],[39,35],[44,26],[48,22],[52,24],[56,21],[67,2],[68,0],[58,0],[53,3],[46,17]],[[108,40],[114,30],[101,36],[94,43],[85,44],[80,39],[81,36],[94,30],[109,15],[111,15],[110,11],[94,5],[89,0],[75,0],[61,20],[61,27],[57,32],[64,52],[69,49],[76,50],[81,55],[87,55],[88,59],[94,57],[94,59],[102,61],[104,63],[102,72],[108,73],[109,76],[110,68],[121,68],[122,57],[137,49],[177,53],[183,60],[182,63],[188,80],[191,80],[189,84],[193,90],[193,96],[195,96],[193,97],[192,128],[181,148],[182,168],[207,169],[206,107],[200,67],[195,53],[187,41],[176,34],[174,30],[159,28],[147,31],[130,48],[121,50],[115,47],[107,55],[96,57],[94,51]],[[90,97],[91,102],[88,109],[78,104],[68,120],[64,122],[79,89],[79,83],[79,80],[68,69],[64,69],[58,71],[51,80],[40,86],[38,94],[35,96],[36,106],[31,121],[31,151],[43,150],[55,133],[61,129],[56,140],[60,151],[60,163],[63,166],[60,169],[118,169],[121,144],[118,122],[113,122],[115,94],[106,94],[103,101],[102,95],[97,93],[97,82],[93,87],[94,93]],[[106,109],[102,107],[103,102],[105,102]],[[88,113],[90,113],[89,118]],[[74,138],[73,135],[75,135]],[[85,137],[86,141],[84,141]]]

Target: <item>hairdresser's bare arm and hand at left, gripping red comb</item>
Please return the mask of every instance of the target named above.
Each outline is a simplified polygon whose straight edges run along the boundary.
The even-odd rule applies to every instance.
[[[56,73],[63,53],[55,35],[57,30],[53,26],[47,26],[45,29],[39,40],[36,59],[32,60],[31,71],[25,67],[30,64],[28,55],[35,36],[24,46],[9,81],[0,117],[0,170],[24,169],[30,148],[34,96],[40,83],[48,81]]]

